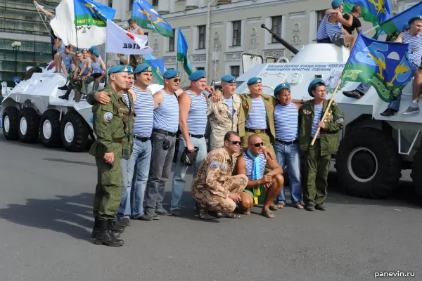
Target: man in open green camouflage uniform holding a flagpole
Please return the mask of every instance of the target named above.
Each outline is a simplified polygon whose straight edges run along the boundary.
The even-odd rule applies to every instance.
[[[327,177],[331,155],[338,150],[338,136],[343,129],[343,112],[332,103],[327,115],[324,112],[326,100],[324,80],[314,79],[308,86],[308,93],[314,99],[302,105],[299,110],[299,150],[302,157],[303,201],[307,211],[324,211],[327,196]],[[320,129],[314,145],[310,145],[317,129]]]

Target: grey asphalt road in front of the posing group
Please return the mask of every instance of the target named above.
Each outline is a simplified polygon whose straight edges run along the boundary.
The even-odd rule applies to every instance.
[[[422,280],[422,211],[409,173],[388,200],[348,197],[330,179],[327,211],[286,207],[272,220],[256,207],[238,220],[200,221],[187,185],[186,216],[132,221],[123,247],[102,247],[89,237],[93,157],[0,133],[0,280]]]

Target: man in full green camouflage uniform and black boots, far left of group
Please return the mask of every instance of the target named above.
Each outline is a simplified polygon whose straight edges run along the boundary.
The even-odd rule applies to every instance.
[[[130,120],[133,114],[127,101],[119,93],[127,89],[128,67],[115,66],[108,70],[110,81],[104,92],[110,98],[105,105],[94,103],[93,128],[96,141],[89,153],[96,159],[98,179],[94,195],[94,229],[91,236],[95,244],[122,246],[113,232],[122,232],[124,227],[115,223],[116,212],[122,198],[122,170],[120,157],[131,137]]]

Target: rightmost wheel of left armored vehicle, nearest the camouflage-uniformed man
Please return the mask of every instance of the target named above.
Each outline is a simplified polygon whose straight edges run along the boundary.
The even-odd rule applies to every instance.
[[[82,152],[87,148],[88,125],[79,113],[69,111],[61,122],[61,139],[65,150]]]

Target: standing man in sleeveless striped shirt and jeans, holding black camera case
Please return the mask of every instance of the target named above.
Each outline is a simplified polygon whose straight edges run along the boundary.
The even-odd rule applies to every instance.
[[[174,216],[181,216],[181,197],[186,185],[185,176],[188,166],[181,163],[184,150],[187,152],[197,150],[196,163],[193,164],[193,176],[196,175],[196,170],[207,154],[205,129],[207,127],[208,99],[203,93],[207,84],[207,74],[203,70],[198,70],[189,76],[189,80],[191,80],[191,88],[179,96],[181,136],[173,174],[172,201],[170,204],[170,213]]]

